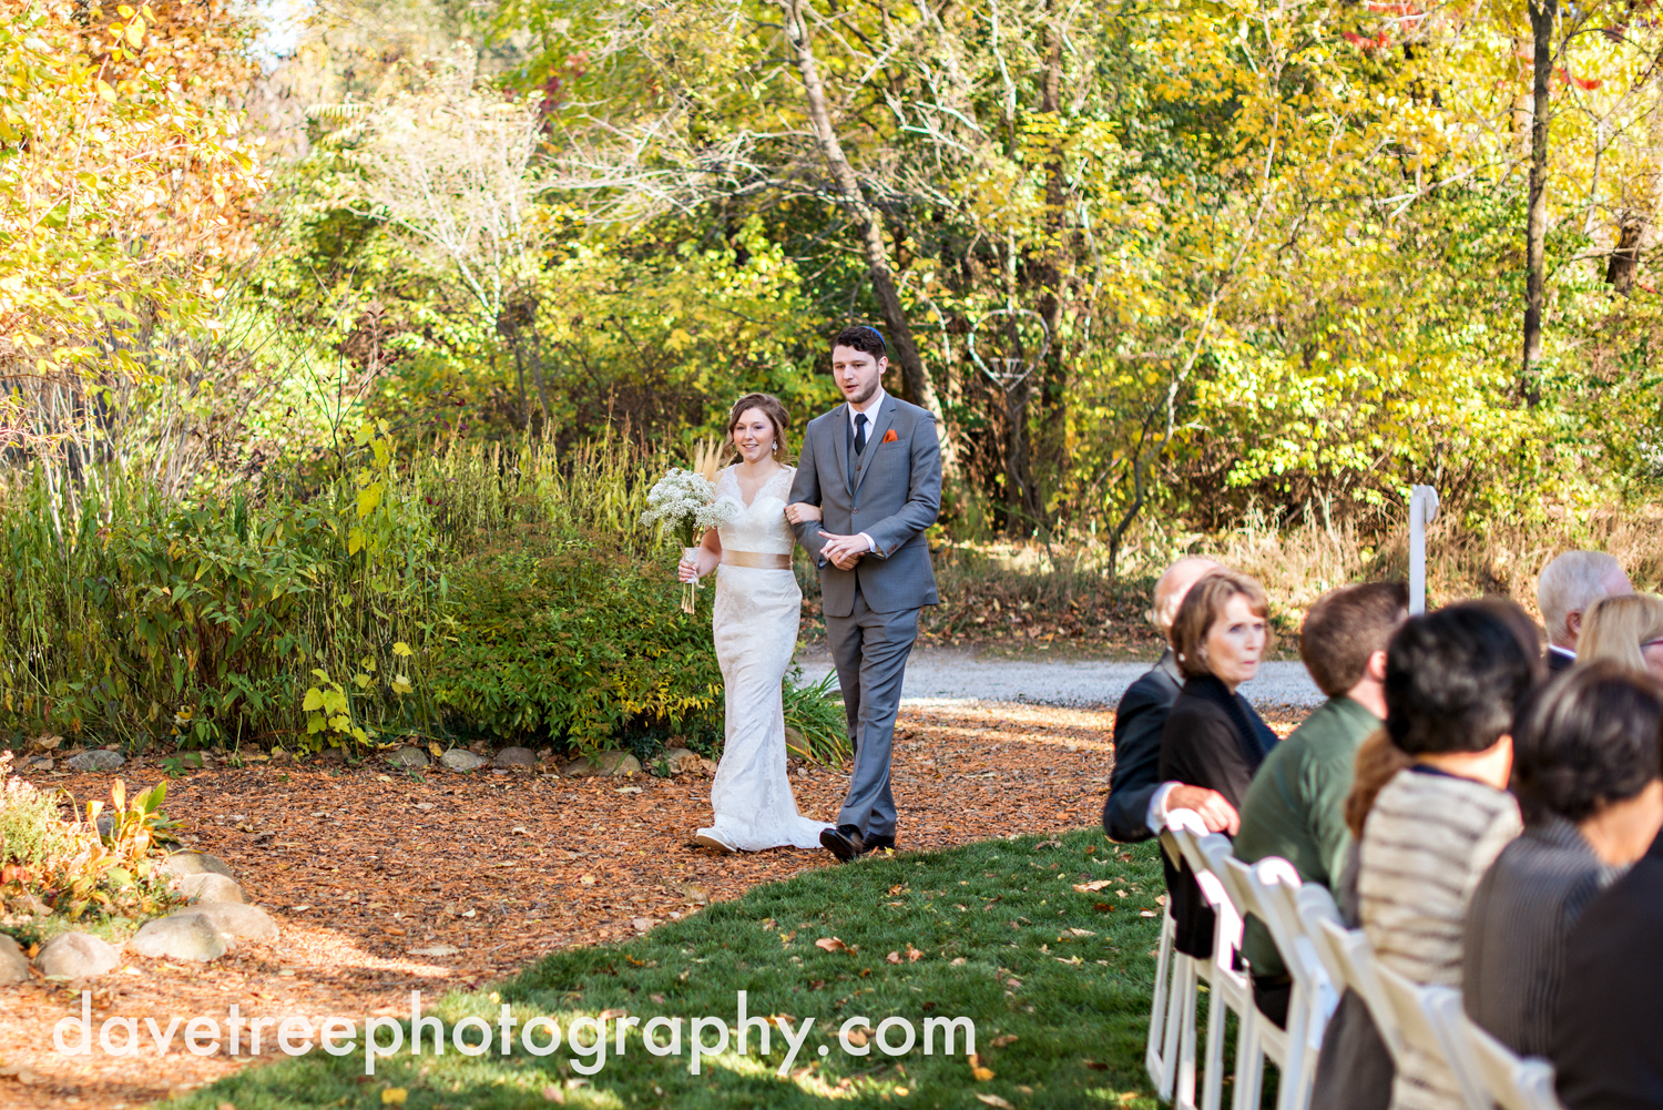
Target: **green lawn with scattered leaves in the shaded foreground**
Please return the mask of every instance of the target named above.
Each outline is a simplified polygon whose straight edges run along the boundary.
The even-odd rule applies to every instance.
[[[1074,890],[1101,879],[1113,882],[1096,892]],[[559,952],[494,992],[456,992],[426,1003],[426,1013],[446,1022],[447,1035],[454,1022],[477,1015],[497,1037],[504,1005],[516,1023],[547,1015],[562,1032],[552,1055],[526,1052],[516,1025],[506,1057],[496,1040],[489,1053],[472,1058],[454,1045],[431,1055],[429,1043],[429,1055],[401,1050],[378,1058],[368,1078],[361,1050],[339,1058],[313,1052],[166,1105],[381,1107],[402,1095],[411,1110],[550,1102],[620,1110],[775,1108],[827,1098],[891,1107],[1152,1108],[1142,1038],[1157,919],[1141,910],[1154,910],[1161,892],[1154,845],[1121,849],[1098,830],[860,860],[758,887],[629,944]],[[846,950],[815,944],[828,937]],[[900,962],[888,959],[891,952]],[[813,1018],[787,1075],[778,1073],[787,1057],[778,1028],[770,1030],[768,1053],[758,1052],[760,1035],[752,1028],[748,1055],[730,1043],[725,1053],[703,1057],[698,1075],[690,1073],[688,1022],[720,1018],[703,1028],[705,1043],[715,1043],[718,1025],[737,1023],[738,990],[747,992],[752,1015],[785,1017],[793,1037]],[[634,1025],[617,1055],[612,1017],[605,1065],[582,1075],[594,1053],[572,1055],[567,1025],[609,1010],[644,1023],[659,1015],[687,1018],[680,1053],[650,1055]],[[906,1018],[920,1040],[930,1018],[971,1018],[980,1067],[991,1075],[973,1072],[963,1032],[946,1055],[940,1028],[930,1055],[915,1043],[891,1057],[875,1042],[866,1045],[870,1055],[850,1055],[838,1027],[855,1015],[870,1017],[873,1027]],[[660,1045],[665,1028],[655,1033]],[[471,1042],[481,1040],[476,1030],[466,1030]],[[861,1033],[851,1037],[851,1048]],[[407,1040],[407,1022],[402,1035]],[[888,1035],[891,1047],[905,1042],[900,1023]],[[391,1028],[378,1032],[382,1045],[392,1037]],[[539,1028],[534,1038],[542,1045],[547,1032]]]

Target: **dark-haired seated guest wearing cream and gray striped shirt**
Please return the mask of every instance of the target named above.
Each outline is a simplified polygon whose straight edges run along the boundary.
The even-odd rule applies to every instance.
[[[1387,649],[1385,732],[1414,762],[1364,820],[1357,897],[1375,959],[1412,982],[1460,987],[1472,890],[1522,827],[1507,782],[1530,689],[1530,656],[1490,606],[1412,617]],[[1440,1057],[1405,1045],[1390,1107],[1465,1100]]]

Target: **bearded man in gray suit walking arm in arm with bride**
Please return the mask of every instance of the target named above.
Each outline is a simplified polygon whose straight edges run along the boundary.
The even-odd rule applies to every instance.
[[[925,529],[941,509],[935,418],[883,391],[890,359],[876,328],[843,328],[832,376],[846,404],[808,423],[792,503],[822,519],[787,518],[820,566],[827,641],[836,664],[855,772],[836,829],[820,844],[840,860],[895,847],[890,747],[918,609],[940,602]]]

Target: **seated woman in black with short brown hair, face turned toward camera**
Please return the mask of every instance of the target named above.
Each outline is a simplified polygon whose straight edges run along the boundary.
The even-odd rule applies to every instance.
[[[1271,602],[1246,574],[1214,571],[1189,587],[1172,622],[1172,651],[1184,689],[1161,736],[1161,777],[1217,790],[1241,810],[1247,784],[1276,746],[1247,699],[1236,692],[1259,672],[1271,646]],[[1174,947],[1194,957],[1212,954],[1212,910],[1189,870],[1162,854],[1172,899]]]

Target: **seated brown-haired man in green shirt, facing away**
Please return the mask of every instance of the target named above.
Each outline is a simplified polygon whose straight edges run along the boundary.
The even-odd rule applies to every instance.
[[[1304,882],[1332,889],[1345,869],[1357,747],[1385,719],[1385,644],[1409,617],[1402,582],[1345,586],[1324,594],[1299,631],[1299,657],[1329,696],[1292,736],[1271,749],[1242,799],[1236,859],[1281,855]],[[1287,1023],[1292,982],[1269,930],[1249,917],[1242,935],[1259,1010]]]

